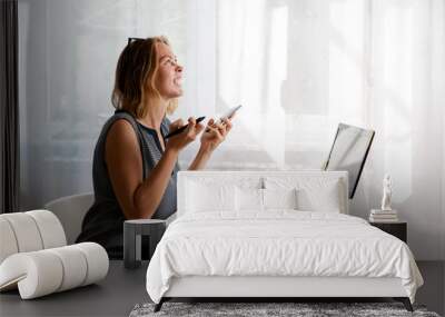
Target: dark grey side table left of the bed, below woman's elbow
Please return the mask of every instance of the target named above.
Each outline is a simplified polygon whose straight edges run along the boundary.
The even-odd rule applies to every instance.
[[[138,268],[141,265],[142,236],[149,238],[149,258],[166,231],[166,220],[137,219],[123,222],[123,266]]]

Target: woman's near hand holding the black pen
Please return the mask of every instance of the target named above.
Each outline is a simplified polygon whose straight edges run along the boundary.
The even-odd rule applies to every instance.
[[[180,127],[184,126],[182,119],[178,119],[170,125],[170,132],[179,129]],[[186,130],[180,132],[179,135],[176,135],[174,137],[170,137],[167,141],[166,145],[166,150],[172,150],[176,152],[179,152],[181,149],[187,147],[190,142],[192,142],[196,137],[202,131],[204,126],[201,123],[196,123],[196,119],[190,117],[188,118],[188,127]]]

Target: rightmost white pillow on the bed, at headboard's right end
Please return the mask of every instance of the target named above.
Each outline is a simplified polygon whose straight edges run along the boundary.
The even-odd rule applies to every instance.
[[[313,184],[297,190],[298,210],[342,212],[342,188],[338,180]]]

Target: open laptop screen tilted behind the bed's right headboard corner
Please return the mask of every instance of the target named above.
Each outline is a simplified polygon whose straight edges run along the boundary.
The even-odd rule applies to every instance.
[[[339,123],[325,170],[348,172],[349,199],[354,197],[375,131]]]

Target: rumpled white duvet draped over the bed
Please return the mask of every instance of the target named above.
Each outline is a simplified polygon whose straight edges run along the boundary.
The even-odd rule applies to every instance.
[[[423,285],[399,239],[362,218],[295,210],[179,217],[150,260],[150,298],[159,303],[184,276],[398,277],[413,303]]]

